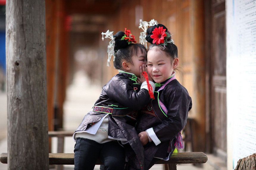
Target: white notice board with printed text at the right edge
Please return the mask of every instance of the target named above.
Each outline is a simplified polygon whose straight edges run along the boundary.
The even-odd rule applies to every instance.
[[[256,0],[227,0],[228,169],[256,153]]]

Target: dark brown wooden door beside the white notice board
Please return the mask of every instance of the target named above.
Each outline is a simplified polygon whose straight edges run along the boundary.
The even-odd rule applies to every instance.
[[[227,158],[225,0],[205,2],[207,151]]]

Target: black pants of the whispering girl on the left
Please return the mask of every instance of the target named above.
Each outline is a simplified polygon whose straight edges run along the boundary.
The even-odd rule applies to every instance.
[[[105,170],[124,170],[124,148],[116,141],[100,144],[78,138],[74,153],[74,170],[93,170],[98,158]]]

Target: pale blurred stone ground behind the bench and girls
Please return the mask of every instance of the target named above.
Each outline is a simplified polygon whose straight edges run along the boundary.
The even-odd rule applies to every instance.
[[[77,72],[73,83],[67,88],[64,103],[63,128],[75,131],[84,115],[93,107],[101,93],[101,86],[90,85],[83,72]],[[72,153],[75,142],[72,137],[65,137],[65,153]],[[52,139],[52,152],[57,152],[57,139]],[[0,153],[7,152],[7,94],[0,92]],[[50,168],[53,169],[53,168]],[[74,169],[74,165],[64,165],[64,170]],[[154,165],[150,170],[162,170],[163,165]],[[202,170],[192,164],[179,164],[177,170]],[[0,170],[7,170],[7,164],[0,163]],[[95,166],[99,170],[99,166]]]

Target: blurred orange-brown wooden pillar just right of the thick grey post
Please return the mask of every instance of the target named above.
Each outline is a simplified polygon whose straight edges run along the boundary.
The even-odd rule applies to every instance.
[[[57,19],[56,0],[45,0],[46,12],[46,77],[47,77],[47,112],[48,130],[54,131],[54,94],[56,93],[56,41]],[[51,152],[51,138],[49,138]]]

